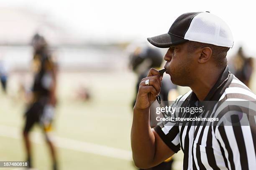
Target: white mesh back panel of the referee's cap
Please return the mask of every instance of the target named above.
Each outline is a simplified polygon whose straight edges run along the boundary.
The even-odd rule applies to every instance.
[[[233,47],[233,36],[228,25],[216,15],[199,13],[193,19],[184,39],[213,44],[223,47]]]

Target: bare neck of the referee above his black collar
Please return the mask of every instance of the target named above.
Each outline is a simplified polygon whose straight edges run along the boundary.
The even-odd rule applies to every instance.
[[[197,80],[193,85],[190,86],[193,92],[197,95],[197,98],[202,101],[205,99],[207,94],[210,92],[212,87],[217,82],[218,78],[220,77],[220,74],[222,71],[215,70],[210,72],[204,72],[200,73],[201,75],[197,77]]]

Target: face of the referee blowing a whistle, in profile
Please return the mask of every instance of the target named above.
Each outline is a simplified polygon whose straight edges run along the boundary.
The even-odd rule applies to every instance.
[[[180,86],[189,86],[193,82],[193,72],[196,68],[197,62],[195,54],[188,53],[188,43],[173,45],[169,48],[164,56],[166,60],[166,73],[171,76],[174,84]]]

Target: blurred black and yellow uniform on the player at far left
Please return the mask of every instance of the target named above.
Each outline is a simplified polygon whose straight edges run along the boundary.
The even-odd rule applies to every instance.
[[[28,132],[36,122],[40,122],[45,131],[51,130],[53,107],[49,105],[49,100],[54,81],[54,67],[54,62],[47,52],[36,52],[33,58],[33,101],[25,113],[25,132]]]

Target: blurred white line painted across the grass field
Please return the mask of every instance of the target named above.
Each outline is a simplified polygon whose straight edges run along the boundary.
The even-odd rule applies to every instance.
[[[0,125],[0,136],[21,140],[22,133],[18,128]],[[42,133],[31,132],[31,141],[33,143],[43,144],[45,143],[44,135]],[[92,153],[121,160],[132,160],[132,153],[128,150],[122,150],[57,136],[54,136],[54,141],[54,144],[59,148],[76,150],[83,153]]]

